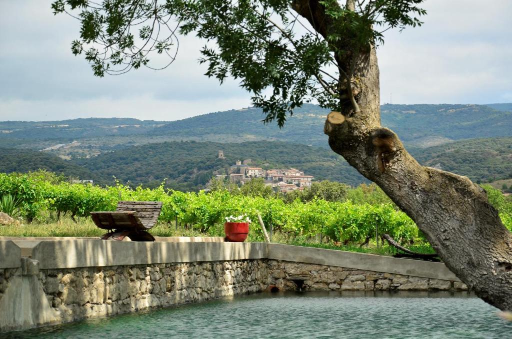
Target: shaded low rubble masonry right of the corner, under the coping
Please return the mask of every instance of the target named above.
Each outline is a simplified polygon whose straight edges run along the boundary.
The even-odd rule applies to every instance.
[[[268,260],[269,284],[279,290],[467,290],[460,281],[346,267]]]

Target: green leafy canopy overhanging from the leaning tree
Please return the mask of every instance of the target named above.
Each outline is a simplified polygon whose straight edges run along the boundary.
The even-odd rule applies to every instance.
[[[176,58],[178,35],[195,33],[207,41],[200,61],[208,64],[206,75],[221,83],[240,79],[264,121],[283,126],[295,107],[311,100],[334,110],[347,100],[357,106],[347,88],[359,55],[383,43],[389,28],[421,25],[422,1],[57,0],[52,9],[80,20],[71,49],[99,77],[166,67]],[[321,8],[325,19],[301,20],[304,6]],[[154,54],[169,59],[154,65]]]

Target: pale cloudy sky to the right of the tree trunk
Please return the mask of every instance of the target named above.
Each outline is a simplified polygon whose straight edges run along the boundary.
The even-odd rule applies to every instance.
[[[430,0],[424,25],[387,34],[381,102],[490,103],[512,91],[512,2]]]

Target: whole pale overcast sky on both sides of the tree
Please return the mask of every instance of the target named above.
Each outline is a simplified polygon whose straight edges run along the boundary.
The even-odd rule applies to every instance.
[[[0,120],[178,120],[250,105],[232,80],[203,74],[204,41],[181,37],[167,69],[94,77],[74,56],[78,21],[46,0],[0,0]],[[381,102],[512,102],[512,0],[426,0],[420,28],[389,31],[378,50]]]

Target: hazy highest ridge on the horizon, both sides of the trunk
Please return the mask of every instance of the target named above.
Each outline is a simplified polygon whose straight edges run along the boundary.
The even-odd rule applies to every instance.
[[[512,105],[512,104],[511,104]],[[155,135],[174,135],[202,141],[281,140],[328,147],[323,126],[328,109],[305,104],[283,129],[264,126],[262,111],[246,108],[215,112],[170,122]],[[460,139],[512,136],[512,112],[485,105],[381,106],[382,125],[398,133],[404,143],[429,147]]]

